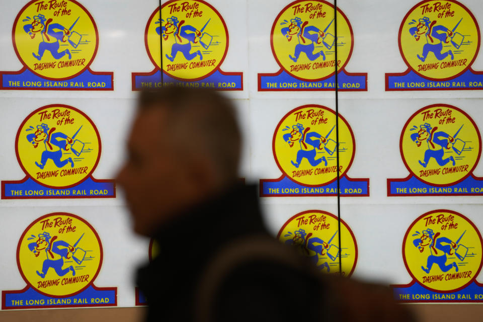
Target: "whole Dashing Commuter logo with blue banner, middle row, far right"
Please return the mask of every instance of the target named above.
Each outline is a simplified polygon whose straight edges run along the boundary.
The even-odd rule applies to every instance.
[[[399,148],[410,175],[387,179],[388,196],[483,195],[483,178],[472,173],[481,136],[463,110],[447,104],[420,109],[406,122]]]

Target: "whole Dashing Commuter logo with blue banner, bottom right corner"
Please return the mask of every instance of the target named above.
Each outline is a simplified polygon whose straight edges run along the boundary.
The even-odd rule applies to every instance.
[[[403,259],[413,281],[391,285],[401,302],[481,302],[476,281],[482,264],[481,234],[474,223],[452,210],[419,216],[403,240]]]

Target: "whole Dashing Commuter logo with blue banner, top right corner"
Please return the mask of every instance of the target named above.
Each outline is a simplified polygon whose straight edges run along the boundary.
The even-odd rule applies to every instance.
[[[483,89],[483,72],[471,68],[478,23],[459,2],[420,2],[401,22],[398,42],[408,70],[386,73],[386,91]]]

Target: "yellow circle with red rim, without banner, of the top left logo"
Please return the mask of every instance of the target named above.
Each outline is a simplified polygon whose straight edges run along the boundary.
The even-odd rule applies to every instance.
[[[19,59],[49,79],[83,72],[96,55],[98,39],[91,14],[74,0],[31,1],[18,14],[13,29]]]

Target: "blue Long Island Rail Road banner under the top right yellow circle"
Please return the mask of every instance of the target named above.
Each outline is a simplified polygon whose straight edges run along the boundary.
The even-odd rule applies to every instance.
[[[483,73],[470,68],[448,81],[431,81],[410,70],[407,74],[386,74],[386,91],[482,90]]]

